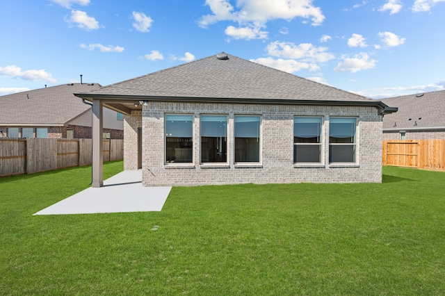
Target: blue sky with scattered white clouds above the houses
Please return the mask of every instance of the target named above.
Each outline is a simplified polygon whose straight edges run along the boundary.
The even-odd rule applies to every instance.
[[[0,95],[221,51],[372,98],[445,89],[445,0],[5,0]]]

